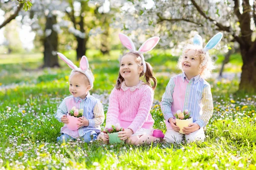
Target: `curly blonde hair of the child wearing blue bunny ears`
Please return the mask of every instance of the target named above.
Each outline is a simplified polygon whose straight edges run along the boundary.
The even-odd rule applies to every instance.
[[[179,60],[178,60],[178,63],[177,63],[180,70],[183,71],[181,62],[182,62],[182,59],[183,59],[184,55],[189,50],[194,50],[195,51],[195,57],[200,57],[200,59],[201,59],[201,63],[199,65],[199,69],[201,69],[200,76],[203,79],[209,78],[211,76],[212,70],[215,69],[216,66],[215,66],[212,58],[209,57],[209,53],[204,52],[203,48],[201,48],[198,45],[188,44],[183,48],[182,54],[179,57]]]

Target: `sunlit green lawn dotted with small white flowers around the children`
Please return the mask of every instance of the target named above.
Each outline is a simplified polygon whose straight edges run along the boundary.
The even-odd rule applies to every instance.
[[[106,113],[108,95],[119,71],[116,59],[120,53],[113,51],[111,57],[99,57],[95,51],[88,53],[95,76],[91,93],[101,100]],[[176,67],[177,57],[158,51],[151,54],[153,57],[147,61],[154,66],[158,81],[151,114],[155,120],[154,128],[165,132],[159,102],[169,78],[180,71]],[[65,55],[71,57],[73,52]],[[218,65],[221,57],[216,61]],[[231,57],[226,72],[239,72],[239,57],[236,54]],[[21,60],[23,62],[19,62]],[[0,167],[17,170],[256,170],[256,96],[233,95],[239,85],[237,78],[207,80],[212,85],[215,109],[207,126],[205,142],[131,146],[77,141],[60,145],[56,143],[56,137],[63,124],[53,114],[62,99],[70,95],[67,81],[71,70],[64,62],[61,62],[61,69],[35,70],[42,64],[41,60],[41,54],[28,58],[18,55],[3,58],[0,55]]]

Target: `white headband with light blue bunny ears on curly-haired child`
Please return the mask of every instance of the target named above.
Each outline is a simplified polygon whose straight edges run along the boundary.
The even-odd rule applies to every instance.
[[[202,37],[198,34],[195,34],[195,37],[193,39],[193,45],[198,45],[199,47],[203,48],[203,51],[206,53],[209,49],[214,48],[222,39],[223,34],[221,32],[218,32],[207,42],[205,47],[203,48],[203,40]],[[202,65],[205,65],[207,59],[204,60]]]

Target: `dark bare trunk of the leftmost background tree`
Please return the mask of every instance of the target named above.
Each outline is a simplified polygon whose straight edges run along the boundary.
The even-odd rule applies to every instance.
[[[52,29],[56,24],[56,16],[47,17],[45,30],[52,30],[49,36],[44,39],[44,66],[43,67],[59,67],[58,63],[58,33]]]

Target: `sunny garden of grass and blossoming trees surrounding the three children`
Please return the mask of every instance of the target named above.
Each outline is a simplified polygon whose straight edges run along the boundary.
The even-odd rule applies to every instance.
[[[2,169],[250,169],[256,170],[255,0],[0,0],[0,167]],[[205,142],[148,146],[82,141],[57,144],[62,123],[54,118],[69,96],[70,68],[86,54],[95,82],[93,96],[105,113],[127,50],[118,33],[137,48],[160,42],[145,55],[157,88],[151,114],[166,131],[161,97],[179,74],[184,44],[200,34],[204,45],[218,31],[209,53],[217,68],[207,79],[214,112]],[[105,123],[102,124],[102,129]]]

